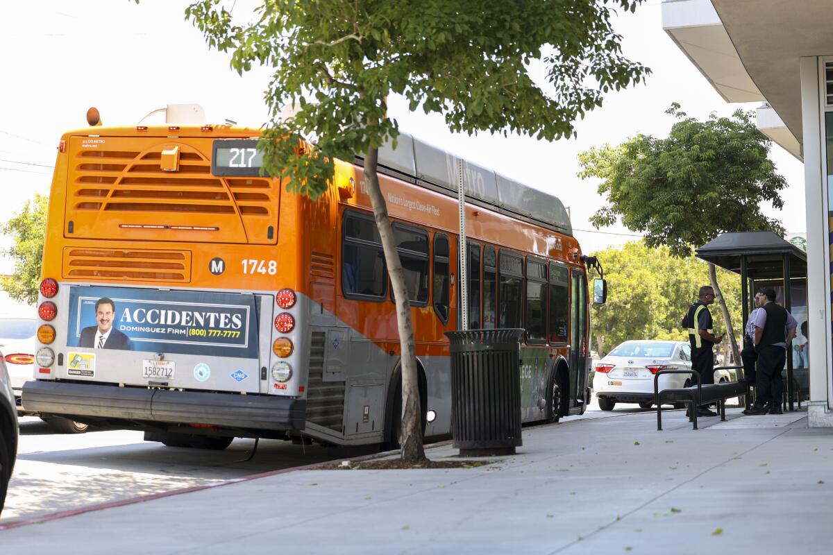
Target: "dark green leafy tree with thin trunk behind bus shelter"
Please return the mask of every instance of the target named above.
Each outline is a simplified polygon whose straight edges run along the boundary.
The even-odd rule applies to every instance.
[[[579,155],[579,176],[601,179],[598,191],[608,203],[591,223],[598,228],[621,218],[629,230],[645,234],[646,245],[666,245],[677,257],[690,256],[692,245],[727,231],[784,235],[781,222],[761,213],[764,202],[784,205],[778,193],[786,181],[767,156],[772,142],[758,131],[751,113],[697,121],[676,103],[666,113],[678,121],[665,139],[637,135]],[[737,364],[737,339],[711,264],[709,277]]]

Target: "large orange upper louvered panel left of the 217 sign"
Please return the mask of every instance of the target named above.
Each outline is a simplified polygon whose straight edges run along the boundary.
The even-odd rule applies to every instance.
[[[67,221],[90,239],[177,240],[175,225],[203,229],[189,239],[274,244],[280,186],[260,177],[212,176],[211,141],[107,137],[106,150],[73,146]],[[142,141],[152,140],[151,137]],[[162,170],[162,151],[178,146],[177,171]],[[132,148],[131,148],[132,147]],[[203,154],[205,152],[205,154]],[[124,225],[131,225],[126,230]],[[157,225],[156,228],[153,225]],[[208,228],[212,232],[206,233]]]

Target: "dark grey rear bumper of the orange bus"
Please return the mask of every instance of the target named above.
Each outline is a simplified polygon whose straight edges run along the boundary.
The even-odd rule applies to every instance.
[[[23,385],[23,406],[29,412],[67,417],[301,430],[306,420],[307,401],[277,395],[175,391],[43,380]]]

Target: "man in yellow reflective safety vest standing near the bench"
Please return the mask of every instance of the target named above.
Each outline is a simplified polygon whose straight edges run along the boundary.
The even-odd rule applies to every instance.
[[[723,340],[723,335],[716,337],[712,330],[711,312],[708,305],[715,302],[715,290],[709,285],[700,288],[700,299],[691,305],[682,319],[682,327],[688,331],[691,343],[691,369],[700,373],[703,384],[715,383],[715,354],[714,344]],[[691,385],[697,383],[696,376],[692,376]],[[697,416],[716,416],[717,413],[707,407],[697,407]]]

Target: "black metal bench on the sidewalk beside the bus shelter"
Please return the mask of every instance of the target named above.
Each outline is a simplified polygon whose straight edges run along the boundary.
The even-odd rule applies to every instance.
[[[742,369],[743,366],[719,366],[715,370]],[[659,390],[662,374],[691,374],[697,384],[681,389]],[[656,404],[656,429],[662,429],[662,404],[682,403],[688,408],[689,422],[697,429],[697,407],[703,404],[717,403],[721,413],[721,422],[726,422],[726,399],[749,394],[745,381],[723,382],[721,384],[701,384],[700,373],[690,369],[660,370],[654,374],[654,403]]]

